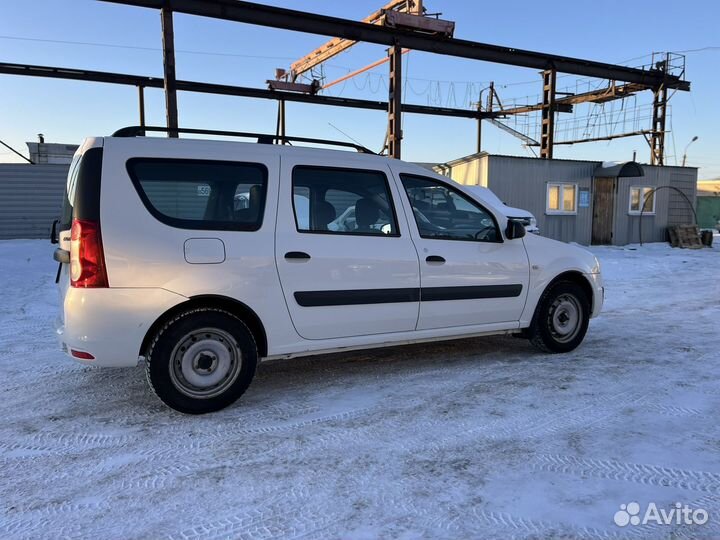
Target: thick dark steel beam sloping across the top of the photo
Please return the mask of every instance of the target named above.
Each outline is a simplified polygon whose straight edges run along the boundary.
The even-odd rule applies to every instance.
[[[416,51],[425,51],[472,60],[520,66],[538,70],[554,69],[557,72],[634,82],[648,86],[665,84],[667,88],[689,90],[690,83],[679,77],[655,70],[642,70],[560,56],[536,51],[515,49],[461,39],[440,39],[411,30],[376,26],[358,21],[329,17],[275,6],[266,6],[241,0],[101,0],[115,4],[153,9],[167,8],[177,13],[210,17],[226,21],[255,24],[310,34],[335,36],[376,43],[400,45]]]

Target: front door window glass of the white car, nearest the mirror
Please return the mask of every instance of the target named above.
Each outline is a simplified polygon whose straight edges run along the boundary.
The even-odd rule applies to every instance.
[[[502,242],[492,214],[460,191],[422,176],[400,179],[422,238]]]

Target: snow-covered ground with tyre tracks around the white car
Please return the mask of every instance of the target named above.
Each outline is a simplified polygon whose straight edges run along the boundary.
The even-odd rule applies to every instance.
[[[574,353],[278,361],[190,417],[141,368],[59,352],[50,246],[0,242],[0,537],[719,537],[720,248],[594,252],[605,310]],[[619,527],[633,501],[709,521]]]

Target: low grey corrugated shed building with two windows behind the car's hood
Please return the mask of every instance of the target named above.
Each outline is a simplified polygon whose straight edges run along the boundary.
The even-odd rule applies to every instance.
[[[491,189],[537,218],[540,234],[584,245],[664,242],[667,228],[695,223],[697,169],[479,152],[433,169]],[[644,206],[644,209],[643,209]]]

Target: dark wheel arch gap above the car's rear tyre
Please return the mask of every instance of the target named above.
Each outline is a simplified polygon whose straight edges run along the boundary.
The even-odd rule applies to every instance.
[[[229,298],[227,296],[211,294],[193,296],[187,301],[171,307],[158,317],[145,333],[145,337],[140,345],[139,355],[145,356],[153,337],[167,321],[183,311],[195,308],[218,308],[235,315],[241,319],[250,329],[250,332],[252,332],[258,346],[258,356],[267,356],[267,333],[265,332],[265,326],[260,320],[260,317],[258,317],[257,313],[255,313],[255,311],[253,311],[247,304],[244,304],[239,300],[235,300],[234,298]]]

